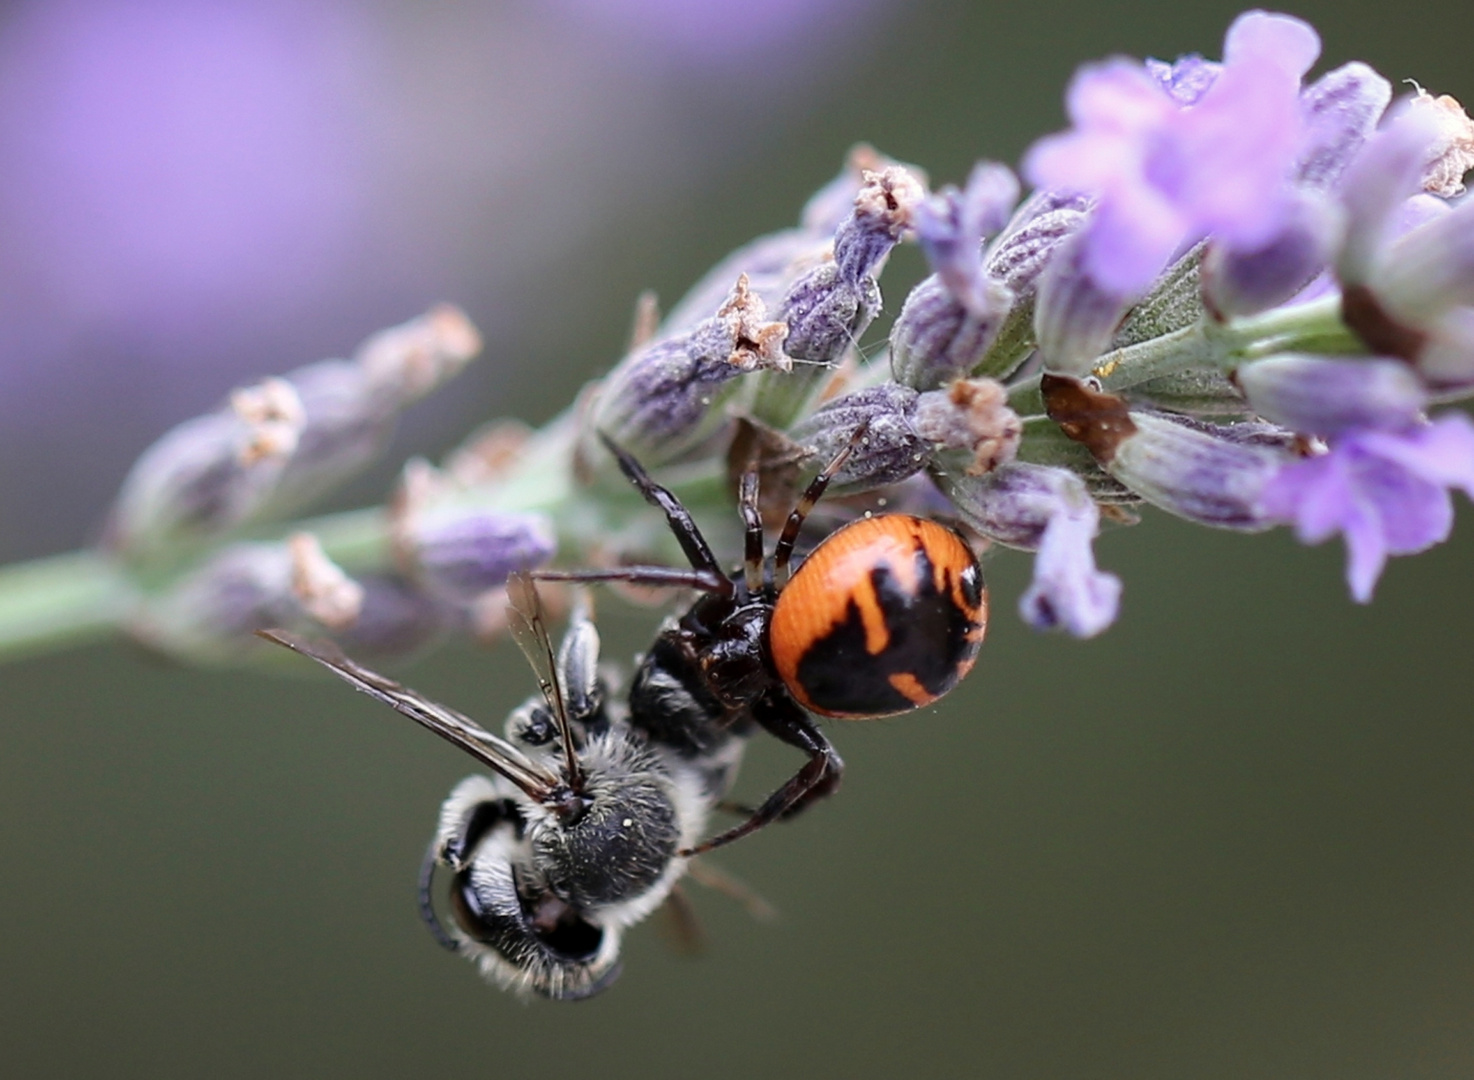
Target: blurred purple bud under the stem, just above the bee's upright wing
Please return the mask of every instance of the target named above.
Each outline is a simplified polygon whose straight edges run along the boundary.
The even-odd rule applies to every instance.
[[[411,461],[395,497],[391,532],[401,564],[432,595],[469,604],[517,570],[547,563],[557,536],[545,514],[495,510]]]

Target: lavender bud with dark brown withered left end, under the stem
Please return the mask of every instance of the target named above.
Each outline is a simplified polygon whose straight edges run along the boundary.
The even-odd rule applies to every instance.
[[[1049,418],[1148,502],[1219,529],[1274,525],[1259,495],[1290,454],[1272,429],[1131,410],[1122,398],[1061,376],[1044,376],[1042,389]]]

